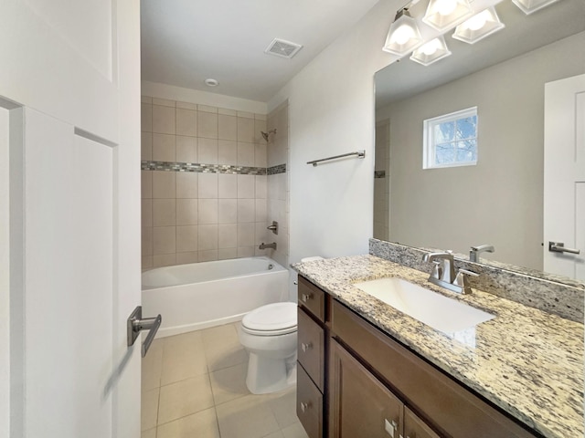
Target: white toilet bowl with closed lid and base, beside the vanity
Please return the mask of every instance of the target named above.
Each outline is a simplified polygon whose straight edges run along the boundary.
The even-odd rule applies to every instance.
[[[250,353],[246,385],[252,394],[296,382],[296,323],[295,303],[268,304],[241,320],[239,342]]]

